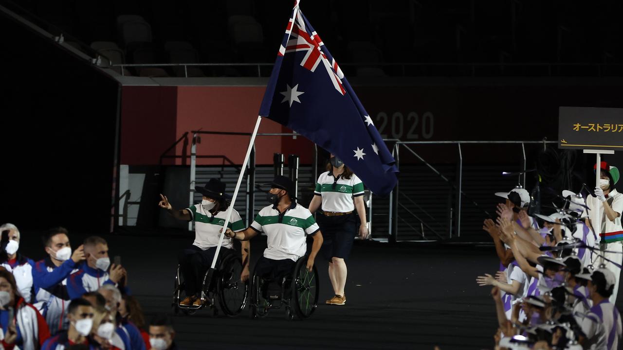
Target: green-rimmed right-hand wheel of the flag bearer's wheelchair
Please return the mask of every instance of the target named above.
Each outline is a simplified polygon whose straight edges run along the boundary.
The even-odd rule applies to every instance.
[[[292,299],[290,305],[298,316],[298,318],[308,318],[312,316],[316,306],[318,305],[318,293],[320,291],[318,284],[318,270],[316,265],[312,271],[307,270],[307,257],[298,259],[292,276],[292,286],[290,292]]]

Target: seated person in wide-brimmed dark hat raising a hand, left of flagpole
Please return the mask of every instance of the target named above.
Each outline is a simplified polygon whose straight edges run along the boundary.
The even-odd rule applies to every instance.
[[[227,214],[227,199],[231,196],[225,193],[226,184],[218,179],[210,179],[204,187],[195,187],[197,192],[203,195],[201,204],[195,204],[186,209],[173,209],[166,196],[160,195],[162,201],[159,206],[169,211],[175,219],[193,220],[195,223],[195,240],[193,245],[179,252],[179,269],[184,278],[186,298],[179,302],[180,306],[201,306],[201,289],[204,275],[212,265],[212,259],[216,252],[216,246],[221,237],[221,228],[225,223]],[[244,222],[240,214],[232,210],[228,229],[240,231],[244,229]],[[249,278],[249,242],[242,242],[242,282]],[[226,255],[234,252],[232,240],[224,237],[222,249],[219,253],[219,261]],[[217,263],[218,263],[217,262]],[[218,265],[217,265],[218,266]]]

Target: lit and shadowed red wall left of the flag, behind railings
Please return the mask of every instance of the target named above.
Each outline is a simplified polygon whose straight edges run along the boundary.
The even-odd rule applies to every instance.
[[[154,165],[161,154],[189,132],[184,152],[180,142],[163,164],[190,164],[193,130],[250,133],[257,120],[265,87],[123,87],[121,102],[121,164]],[[259,133],[291,133],[262,118]],[[197,165],[241,164],[249,136],[201,135]],[[272,164],[273,153],[297,154],[302,164],[312,163],[313,143],[297,136],[257,136],[257,164]],[[186,159],[181,156],[186,155]],[[202,158],[202,157],[210,158]]]

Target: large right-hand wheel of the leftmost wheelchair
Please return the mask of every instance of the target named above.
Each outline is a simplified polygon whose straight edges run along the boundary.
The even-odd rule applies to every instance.
[[[240,281],[242,261],[234,255],[223,259],[216,281],[221,310],[228,316],[235,316],[247,305],[249,280]]]

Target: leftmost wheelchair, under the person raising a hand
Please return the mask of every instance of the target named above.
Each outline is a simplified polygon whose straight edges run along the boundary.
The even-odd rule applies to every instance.
[[[208,269],[203,277],[201,284],[201,305],[181,306],[179,302],[183,300],[184,278],[180,272],[180,267],[175,273],[175,283],[173,288],[173,312],[175,315],[184,313],[185,315],[193,315],[202,308],[209,308],[212,316],[217,316],[219,310],[216,306],[218,300],[221,311],[227,316],[235,316],[240,313],[247,304],[247,295],[249,294],[249,280],[240,281],[240,273],[242,273],[242,261],[236,254],[224,255],[221,262],[210,276]]]

